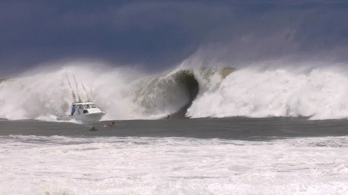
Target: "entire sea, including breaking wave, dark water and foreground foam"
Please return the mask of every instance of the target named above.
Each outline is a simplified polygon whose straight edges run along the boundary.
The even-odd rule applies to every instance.
[[[0,194],[347,194],[348,69],[186,64],[0,79]]]

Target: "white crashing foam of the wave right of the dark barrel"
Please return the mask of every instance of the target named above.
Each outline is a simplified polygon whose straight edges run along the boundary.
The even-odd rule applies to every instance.
[[[339,69],[309,72],[242,69],[228,75],[214,91],[201,91],[187,116],[348,117],[348,74]]]

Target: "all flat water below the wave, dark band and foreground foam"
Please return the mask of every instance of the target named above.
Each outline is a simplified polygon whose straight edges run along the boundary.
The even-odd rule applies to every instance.
[[[0,120],[0,194],[348,191],[347,119],[111,122]]]

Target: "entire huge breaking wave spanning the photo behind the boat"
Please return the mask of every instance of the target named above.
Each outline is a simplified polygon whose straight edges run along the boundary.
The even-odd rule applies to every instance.
[[[1,79],[0,118],[55,120],[69,114],[74,91],[77,98],[90,99],[107,112],[102,120],[159,119],[167,114],[338,119],[348,117],[347,84],[348,74],[333,68],[177,68],[146,75],[122,68],[64,66]]]

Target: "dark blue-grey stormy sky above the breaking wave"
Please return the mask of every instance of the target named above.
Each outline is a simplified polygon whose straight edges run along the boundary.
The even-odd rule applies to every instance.
[[[0,77],[100,61],[161,71],[205,65],[348,61],[346,1],[0,1]]]

